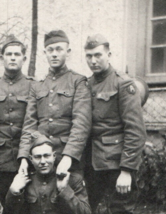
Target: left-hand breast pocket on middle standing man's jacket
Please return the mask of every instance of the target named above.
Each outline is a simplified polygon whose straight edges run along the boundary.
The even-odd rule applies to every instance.
[[[37,114],[40,119],[46,117],[47,114],[48,93],[48,91],[41,91],[36,94]]]

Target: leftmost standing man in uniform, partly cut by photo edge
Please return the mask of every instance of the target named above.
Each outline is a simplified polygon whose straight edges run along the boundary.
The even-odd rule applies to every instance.
[[[26,48],[14,35],[2,45],[4,74],[0,78],[0,201],[18,170],[17,154],[31,78],[22,74]]]

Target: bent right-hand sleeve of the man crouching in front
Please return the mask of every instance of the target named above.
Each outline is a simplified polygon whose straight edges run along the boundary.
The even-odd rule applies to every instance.
[[[81,176],[75,174],[72,183],[71,187],[68,185],[59,193],[57,197],[59,207],[64,210],[64,213],[91,214],[87,192]]]

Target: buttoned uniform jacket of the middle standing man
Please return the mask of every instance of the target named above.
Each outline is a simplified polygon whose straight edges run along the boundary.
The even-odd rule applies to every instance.
[[[61,154],[80,161],[91,129],[91,96],[86,78],[67,67],[35,82],[30,91],[18,158],[28,157],[30,134],[50,138]],[[77,161],[76,161],[77,162]]]

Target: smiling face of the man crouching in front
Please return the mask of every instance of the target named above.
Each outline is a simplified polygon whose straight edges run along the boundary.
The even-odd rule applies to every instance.
[[[54,170],[55,152],[47,144],[32,149],[30,159],[36,171],[40,174],[49,174]]]

